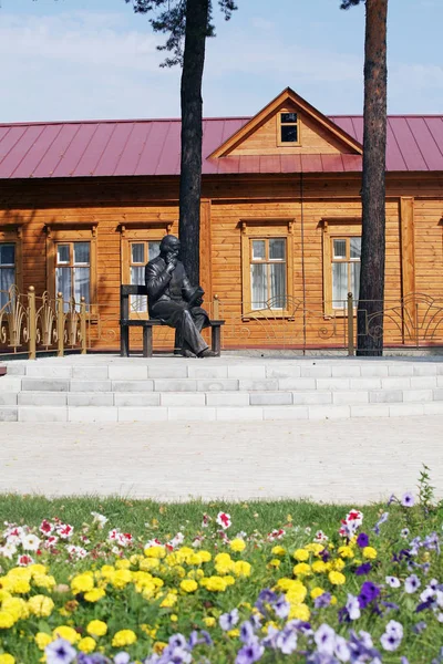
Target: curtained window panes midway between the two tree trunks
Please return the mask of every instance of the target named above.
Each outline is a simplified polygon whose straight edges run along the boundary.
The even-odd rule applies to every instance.
[[[251,309],[285,309],[286,303],[286,239],[250,240]]]

